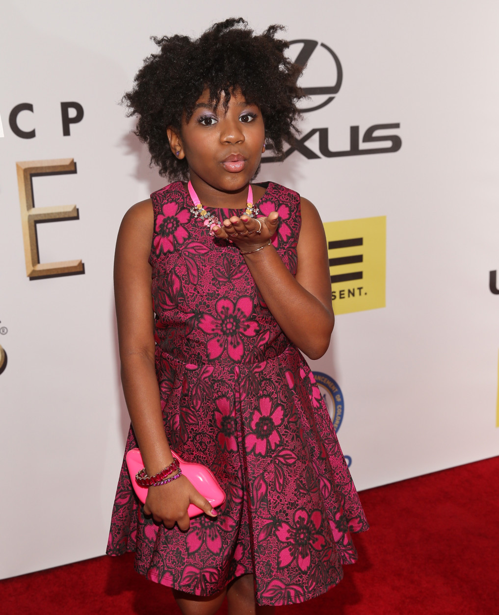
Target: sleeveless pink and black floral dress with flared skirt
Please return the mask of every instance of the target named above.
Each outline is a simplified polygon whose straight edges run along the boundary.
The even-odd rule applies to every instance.
[[[300,196],[263,186],[258,208],[279,212],[273,245],[294,275]],[[369,527],[324,400],[239,250],[194,218],[183,184],[151,199],[164,427],[185,461],[212,470],[226,501],[216,519],[168,530],[144,517],[123,462],[107,553],[135,551],[139,573],[183,592],[212,595],[253,574],[258,604],[303,602],[340,581],[357,558],[350,532]],[[126,452],[136,447],[130,428]]]

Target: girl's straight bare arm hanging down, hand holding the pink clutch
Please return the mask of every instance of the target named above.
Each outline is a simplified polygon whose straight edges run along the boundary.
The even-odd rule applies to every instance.
[[[114,256],[121,381],[138,446],[150,476],[173,461],[164,431],[154,367],[154,312],[148,263],[153,224],[150,200],[130,208],[121,223]],[[178,522],[179,527],[186,529],[189,526],[186,510],[191,502],[206,512],[212,509],[191,483],[181,477],[169,485],[150,487],[144,510],[169,527]]]

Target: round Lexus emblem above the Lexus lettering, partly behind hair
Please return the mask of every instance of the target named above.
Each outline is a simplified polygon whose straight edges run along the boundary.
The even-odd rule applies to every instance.
[[[327,79],[331,85],[319,85],[318,87],[305,87],[301,89],[306,96],[314,97],[316,103],[313,106],[300,108],[301,113],[317,111],[329,105],[340,91],[343,81],[343,69],[341,68],[340,58],[324,42],[310,41],[309,39],[296,39],[289,42],[290,46],[301,45],[301,49],[295,59],[295,64],[301,69],[307,68],[306,74],[311,79]],[[325,97],[319,102],[316,97]],[[318,104],[317,104],[318,103]]]

